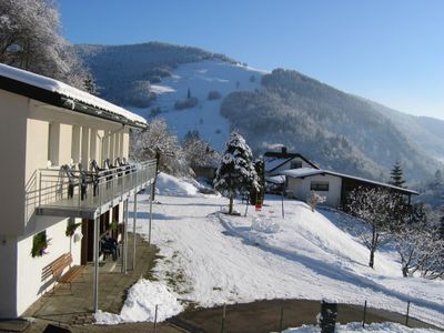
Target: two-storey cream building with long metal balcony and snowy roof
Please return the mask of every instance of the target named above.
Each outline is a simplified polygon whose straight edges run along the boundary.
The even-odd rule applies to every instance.
[[[143,118],[97,97],[0,64],[0,317],[21,315],[50,290],[54,276],[44,269],[63,254],[72,256],[71,266],[98,263],[99,235],[112,222],[128,222],[128,199],[150,185],[155,163],[112,169],[107,176],[77,170],[71,185],[61,165],[88,169],[92,160],[128,159],[130,128],[145,127]],[[74,223],[74,235],[67,236]],[[38,241],[43,238],[49,242]]]

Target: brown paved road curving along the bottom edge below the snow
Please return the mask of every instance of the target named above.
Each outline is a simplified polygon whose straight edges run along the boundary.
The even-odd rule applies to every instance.
[[[279,332],[281,307],[283,306],[282,327],[297,327],[303,324],[316,324],[316,314],[321,310],[319,301],[272,300],[226,306],[224,332],[261,333]],[[184,312],[171,321],[189,327],[191,332],[221,332],[223,307],[203,309]],[[340,304],[337,321],[341,323],[362,322],[363,306]],[[366,323],[405,323],[405,316],[389,311],[367,309]],[[433,327],[416,320],[408,320],[411,327]],[[436,329],[436,327],[434,327]]]

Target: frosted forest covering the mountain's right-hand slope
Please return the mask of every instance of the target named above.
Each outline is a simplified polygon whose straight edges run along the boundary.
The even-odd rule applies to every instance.
[[[411,181],[440,168],[369,101],[282,69],[263,75],[262,87],[233,92],[221,107],[255,151],[282,143],[322,168],[379,180],[395,160]]]

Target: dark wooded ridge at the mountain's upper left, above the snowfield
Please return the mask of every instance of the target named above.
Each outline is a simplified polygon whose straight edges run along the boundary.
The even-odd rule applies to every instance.
[[[75,50],[90,68],[102,98],[122,105],[149,107],[150,85],[172,75],[181,63],[221,60],[223,54],[161,42],[131,46],[79,44]]]

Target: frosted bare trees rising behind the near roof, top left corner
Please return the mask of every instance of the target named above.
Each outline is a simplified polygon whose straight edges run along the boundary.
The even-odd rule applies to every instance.
[[[0,62],[85,89],[88,71],[47,0],[0,0]]]

